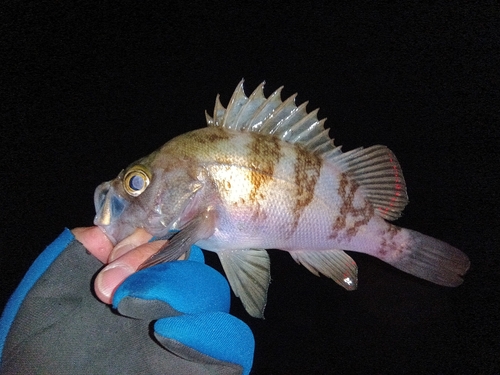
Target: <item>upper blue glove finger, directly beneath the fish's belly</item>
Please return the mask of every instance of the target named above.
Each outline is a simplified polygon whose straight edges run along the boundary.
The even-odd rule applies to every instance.
[[[150,320],[228,312],[229,305],[226,279],[213,268],[193,261],[163,263],[134,273],[113,297],[113,307],[120,314]]]

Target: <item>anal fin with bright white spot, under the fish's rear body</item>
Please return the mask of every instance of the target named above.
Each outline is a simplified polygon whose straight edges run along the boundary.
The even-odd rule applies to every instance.
[[[322,273],[347,290],[358,287],[358,266],[342,250],[294,250],[290,251],[290,255],[316,276]]]

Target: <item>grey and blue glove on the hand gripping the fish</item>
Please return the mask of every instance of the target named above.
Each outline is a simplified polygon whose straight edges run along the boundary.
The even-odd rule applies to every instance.
[[[113,308],[93,294],[102,263],[65,230],[34,262],[0,320],[3,374],[248,374],[254,339],[228,314],[225,278],[187,260],[129,276]]]

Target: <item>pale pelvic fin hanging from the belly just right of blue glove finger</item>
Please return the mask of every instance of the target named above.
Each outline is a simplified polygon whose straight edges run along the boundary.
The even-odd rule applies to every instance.
[[[271,262],[267,251],[242,249],[218,254],[234,294],[240,297],[251,316],[263,318],[271,282]]]

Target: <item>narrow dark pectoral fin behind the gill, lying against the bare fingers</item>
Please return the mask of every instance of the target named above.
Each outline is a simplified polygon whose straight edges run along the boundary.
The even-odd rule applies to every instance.
[[[179,259],[199,240],[210,237],[215,228],[216,213],[204,211],[188,221],[165,245],[139,266],[139,270]]]

